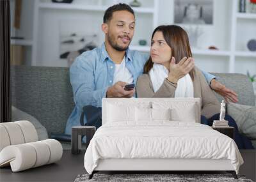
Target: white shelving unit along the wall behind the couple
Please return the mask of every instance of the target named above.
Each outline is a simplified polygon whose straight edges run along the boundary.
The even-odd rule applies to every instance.
[[[33,22],[33,28],[31,27],[33,29],[32,38],[29,38],[29,40],[12,40],[11,43],[13,45],[24,45],[29,48],[29,53],[32,54],[32,66],[67,66],[67,64],[63,64],[64,61],[61,62],[59,60],[59,55],[57,54],[60,42],[60,36],[58,36],[59,29],[56,25],[58,20],[72,20],[80,16],[83,19],[87,18],[86,20],[88,21],[88,17],[92,17],[92,20],[89,20],[89,22],[85,21],[83,24],[87,23],[90,25],[88,28],[100,30],[104,11],[112,4],[119,2],[129,4],[131,0],[74,0],[71,4],[52,3],[51,0],[35,0],[33,1],[33,16],[31,16],[33,17],[31,19]],[[174,23],[173,18],[168,19],[166,16],[168,13],[170,17],[173,16],[174,0],[168,1],[169,4],[167,1],[163,3],[160,0],[140,0],[140,2],[142,2],[141,7],[132,8],[136,15],[136,31],[130,49],[149,52],[150,36],[154,28],[160,24]],[[209,36],[214,37],[212,40],[209,38],[209,40],[219,50],[207,49],[211,45],[211,41],[197,49],[192,47],[192,53],[197,63],[200,64],[202,70],[208,72],[218,72],[218,68],[222,68],[220,72],[246,73],[249,70],[250,73],[255,74],[256,52],[250,52],[246,49],[246,43],[249,38],[256,39],[256,14],[239,13],[239,0],[225,0],[221,1],[221,3],[220,1],[213,2],[215,4],[214,23],[212,26],[206,25],[203,27],[206,34],[208,33]],[[167,6],[169,8],[166,8]],[[168,13],[163,14],[163,11]],[[221,16],[216,16],[218,14],[216,12],[219,11]],[[223,16],[226,17],[225,20],[223,20]],[[166,21],[164,22],[165,19]],[[215,33],[217,29],[219,33]],[[47,31],[48,33],[45,33]],[[52,31],[52,34],[49,31]],[[101,31],[99,31],[99,34],[101,34]],[[221,39],[219,38],[216,42],[215,39],[218,39],[219,35]],[[103,37],[104,35],[102,34],[100,42],[104,40]],[[147,40],[147,45],[139,45],[140,39]],[[200,44],[204,44],[204,40]],[[48,62],[44,62],[45,60]]]

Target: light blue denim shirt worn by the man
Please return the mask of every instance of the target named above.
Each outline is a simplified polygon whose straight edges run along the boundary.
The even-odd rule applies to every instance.
[[[143,66],[148,56],[136,50],[126,50],[125,66],[133,75],[134,84],[143,73]],[[76,106],[68,118],[66,134],[71,134],[72,126],[80,125],[80,116],[85,105],[101,107],[102,98],[106,97],[108,87],[113,85],[114,72],[115,63],[109,57],[104,43],[101,47],[83,52],[76,58],[70,67],[70,82]],[[209,73],[204,75],[208,82],[214,77]]]

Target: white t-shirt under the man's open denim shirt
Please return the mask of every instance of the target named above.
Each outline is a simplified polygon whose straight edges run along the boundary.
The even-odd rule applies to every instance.
[[[133,76],[131,72],[125,67],[125,56],[120,64],[115,64],[113,84],[118,81],[127,82],[128,84],[133,83]]]

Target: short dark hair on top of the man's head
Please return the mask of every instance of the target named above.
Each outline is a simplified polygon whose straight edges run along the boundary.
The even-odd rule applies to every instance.
[[[108,21],[110,21],[112,19],[113,13],[115,11],[123,11],[123,10],[129,11],[134,16],[134,11],[132,10],[131,6],[129,6],[128,4],[125,4],[125,3],[115,4],[113,6],[110,6],[105,11],[104,17],[103,17],[104,24],[106,24]],[[134,16],[134,18],[135,18],[135,16]]]

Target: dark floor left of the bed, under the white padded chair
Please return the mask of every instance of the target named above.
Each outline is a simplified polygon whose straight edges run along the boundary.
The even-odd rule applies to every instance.
[[[12,172],[10,167],[1,168],[0,181],[74,181],[78,174],[86,173],[83,161],[84,152],[72,155],[70,150],[64,150],[57,163],[21,172]]]

